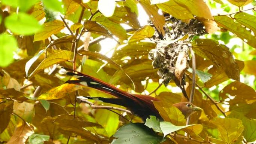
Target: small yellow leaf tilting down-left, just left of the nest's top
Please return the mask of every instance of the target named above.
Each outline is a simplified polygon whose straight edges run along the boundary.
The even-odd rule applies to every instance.
[[[135,31],[134,34],[129,38],[128,43],[138,42],[145,38],[150,38],[155,33],[154,28],[150,27],[149,25],[145,25],[144,27],[140,28],[139,30]]]

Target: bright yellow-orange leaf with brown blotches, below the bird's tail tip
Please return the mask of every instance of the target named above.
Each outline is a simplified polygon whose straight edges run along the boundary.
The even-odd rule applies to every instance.
[[[74,92],[78,89],[80,89],[79,85],[65,83],[61,86],[50,89],[48,92],[40,95],[38,99],[59,99],[70,95],[71,92]]]

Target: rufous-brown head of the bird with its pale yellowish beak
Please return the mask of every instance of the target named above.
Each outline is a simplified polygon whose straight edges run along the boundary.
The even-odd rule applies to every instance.
[[[185,118],[189,117],[191,114],[195,113],[196,111],[203,111],[202,108],[196,107],[190,102],[178,102],[173,104],[174,107],[177,107],[185,116]]]

